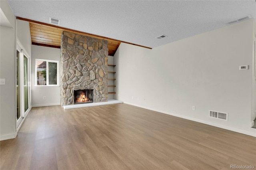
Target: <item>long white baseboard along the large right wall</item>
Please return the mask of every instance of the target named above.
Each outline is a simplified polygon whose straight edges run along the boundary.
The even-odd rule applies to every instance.
[[[206,125],[211,125],[211,126],[214,126],[214,127],[224,128],[224,129],[231,130],[231,131],[234,131],[234,132],[238,132],[238,133],[242,133],[242,134],[247,134],[247,135],[256,137],[256,131],[255,130],[254,131],[249,131],[249,130],[244,130],[244,129],[240,129],[240,128],[228,127],[228,126],[225,126],[225,125],[220,125],[218,123],[213,123],[213,122],[204,121],[204,120],[201,120],[201,119],[196,119],[196,118],[193,118],[193,117],[179,115],[177,113],[161,111],[161,110],[158,110],[158,109],[153,109],[153,108],[150,108],[150,107],[144,107],[144,106],[141,106],[141,105],[136,105],[136,104],[128,103],[128,102],[125,102],[125,101],[124,101],[124,103],[126,103],[128,105],[133,105],[133,106],[136,106],[136,107],[141,107],[141,108],[144,108],[144,109],[148,109],[148,110],[151,110],[151,111],[156,111],[156,112],[164,113],[164,114],[167,114],[167,115],[172,115],[172,116],[175,116],[175,117],[180,117],[180,118],[183,118],[183,119],[188,119],[190,121],[204,123]]]

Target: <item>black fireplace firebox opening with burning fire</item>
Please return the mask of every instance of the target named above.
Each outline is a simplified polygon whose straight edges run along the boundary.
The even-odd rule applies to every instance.
[[[93,103],[93,90],[74,90],[74,104]]]

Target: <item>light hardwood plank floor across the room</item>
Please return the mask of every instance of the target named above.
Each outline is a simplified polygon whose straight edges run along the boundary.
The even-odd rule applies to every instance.
[[[256,168],[255,137],[127,104],[32,108],[0,152],[1,170]]]

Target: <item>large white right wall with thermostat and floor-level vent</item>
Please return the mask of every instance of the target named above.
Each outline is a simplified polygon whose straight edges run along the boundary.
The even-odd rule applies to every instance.
[[[250,19],[154,49],[121,43],[115,99],[256,136],[250,128],[252,29]],[[210,118],[209,110],[228,113],[228,121]]]

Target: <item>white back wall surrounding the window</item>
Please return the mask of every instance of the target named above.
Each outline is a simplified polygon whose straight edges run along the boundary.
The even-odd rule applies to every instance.
[[[48,59],[59,61],[60,71],[60,49],[32,45],[32,107],[60,105],[60,87],[35,86],[36,85],[36,63],[35,59]],[[60,73],[59,73],[60,84]],[[43,97],[46,97],[44,100]]]

